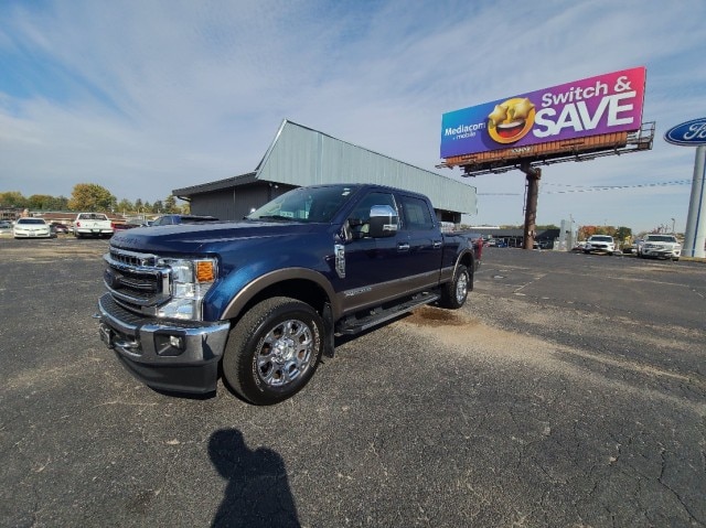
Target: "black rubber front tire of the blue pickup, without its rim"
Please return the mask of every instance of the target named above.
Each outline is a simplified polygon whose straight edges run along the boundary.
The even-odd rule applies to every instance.
[[[292,381],[272,387],[258,375],[258,355],[267,334],[288,320],[301,321],[311,332],[313,347],[308,367]],[[233,327],[223,357],[223,375],[243,399],[260,406],[284,401],[299,392],[313,376],[323,351],[323,321],[309,304],[272,298],[253,306]]]

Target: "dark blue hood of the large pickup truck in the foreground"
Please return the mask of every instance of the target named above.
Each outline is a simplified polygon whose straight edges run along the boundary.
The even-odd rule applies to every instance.
[[[328,227],[322,224],[247,220],[137,227],[114,235],[110,246],[158,255],[221,254],[240,240],[303,235]]]

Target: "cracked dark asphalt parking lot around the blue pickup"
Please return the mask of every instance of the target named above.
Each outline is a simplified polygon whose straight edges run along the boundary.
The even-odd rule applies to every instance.
[[[0,526],[706,526],[706,265],[488,249],[274,407],[97,335],[108,240],[0,239]]]

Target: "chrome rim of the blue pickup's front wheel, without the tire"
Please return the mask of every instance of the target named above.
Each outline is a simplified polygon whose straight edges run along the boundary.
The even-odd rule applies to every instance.
[[[257,375],[269,387],[282,387],[301,376],[314,354],[312,330],[298,320],[277,324],[257,352]]]

